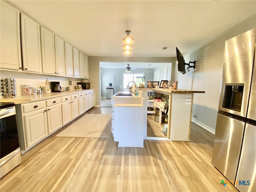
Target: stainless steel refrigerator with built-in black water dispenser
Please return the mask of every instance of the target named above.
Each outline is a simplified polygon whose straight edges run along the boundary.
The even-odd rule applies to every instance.
[[[226,41],[212,164],[256,191],[256,29]]]

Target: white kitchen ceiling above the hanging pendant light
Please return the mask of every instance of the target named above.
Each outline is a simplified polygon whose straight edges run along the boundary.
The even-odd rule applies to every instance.
[[[256,1],[9,0],[88,56],[175,57],[256,14]],[[162,47],[169,47],[161,50]]]

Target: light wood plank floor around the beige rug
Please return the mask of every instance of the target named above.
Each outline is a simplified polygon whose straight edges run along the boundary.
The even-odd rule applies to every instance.
[[[92,108],[86,113],[111,113]],[[0,180],[1,192],[237,191],[212,166],[213,135],[192,124],[191,141],[144,140],[117,147],[113,138],[51,136],[22,156]]]

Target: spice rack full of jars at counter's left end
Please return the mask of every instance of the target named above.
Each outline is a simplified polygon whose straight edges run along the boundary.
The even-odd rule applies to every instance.
[[[17,97],[15,78],[1,78],[1,93],[3,98]]]

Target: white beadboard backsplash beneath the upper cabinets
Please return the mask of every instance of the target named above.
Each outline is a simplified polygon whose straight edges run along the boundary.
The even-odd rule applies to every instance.
[[[72,81],[70,90],[74,89],[74,86],[76,85],[77,82],[82,82],[82,80],[83,80],[80,78],[68,78],[68,77],[52,76],[52,75],[46,75],[46,74],[13,72],[13,71],[5,71],[5,70],[0,70],[0,77],[16,79],[17,96],[21,95],[21,86],[20,85],[29,84],[31,86],[35,86],[35,87],[39,88],[40,86],[45,86],[46,78],[48,78],[49,82],[51,82],[51,81],[60,82],[61,87],[67,87],[68,81]],[[0,98],[2,98],[2,95],[0,95]]]

